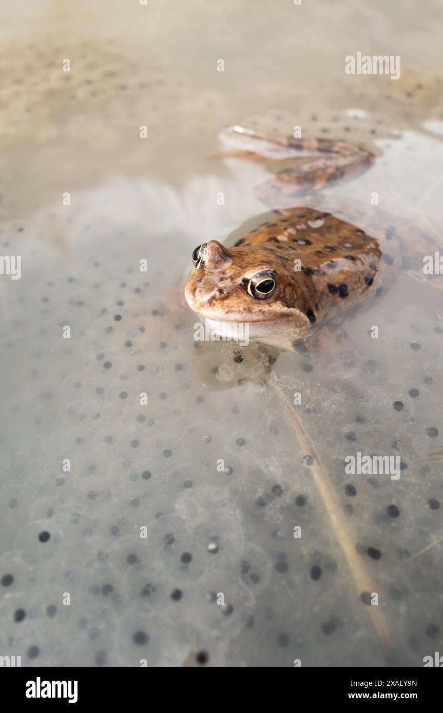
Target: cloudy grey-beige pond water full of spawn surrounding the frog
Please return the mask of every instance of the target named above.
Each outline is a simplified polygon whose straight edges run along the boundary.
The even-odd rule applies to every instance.
[[[5,11],[1,251],[22,275],[0,276],[1,654],[420,666],[442,650],[442,291],[403,273],[347,322],[352,359],[250,344],[238,361],[194,341],[183,303],[195,245],[266,210],[263,165],[215,156],[230,123],[374,150],[316,204],[380,225],[377,191],[443,248],[425,5]],[[346,76],[359,48],[401,55],[402,78]],[[357,451],[400,456],[400,477],[347,475]]]

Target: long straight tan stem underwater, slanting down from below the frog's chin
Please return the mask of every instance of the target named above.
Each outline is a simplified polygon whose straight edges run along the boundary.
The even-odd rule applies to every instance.
[[[285,405],[287,413],[290,416],[292,429],[295,432],[295,436],[297,436],[297,441],[300,444],[302,452],[305,454],[312,454],[314,457],[314,462],[310,466],[310,471],[320,492],[327,514],[329,515],[332,530],[334,530],[338,543],[340,544],[340,547],[345,554],[347,563],[350,566],[352,577],[354,578],[355,588],[357,589],[359,597],[363,592],[375,592],[375,585],[372,583],[370,575],[367,573],[365,565],[362,563],[362,559],[355,550],[355,543],[353,542],[349,532],[348,521],[342,513],[340,502],[338,501],[330,478],[327,475],[326,468],[322,463],[320,453],[318,453],[317,448],[315,448],[312,443],[305,426],[302,424],[299,414],[297,414],[296,409],[288,396],[285,394],[285,391],[283,391],[280,385],[277,384],[277,381],[271,379],[269,383],[270,386],[273,387],[279,399]],[[377,605],[365,605],[365,609],[372,620],[372,625],[377,632],[385,654],[389,656],[392,652],[392,640],[382,611]]]

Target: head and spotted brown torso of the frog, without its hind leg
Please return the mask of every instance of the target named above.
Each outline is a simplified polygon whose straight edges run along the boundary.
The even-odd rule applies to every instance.
[[[185,287],[195,312],[216,332],[247,323],[251,339],[285,344],[340,324],[399,269],[392,231],[372,237],[309,207],[274,210],[232,247],[210,240],[197,257]]]

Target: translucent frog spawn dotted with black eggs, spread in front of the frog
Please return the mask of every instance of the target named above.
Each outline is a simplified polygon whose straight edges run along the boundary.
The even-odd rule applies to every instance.
[[[108,203],[118,204],[121,195],[107,190]],[[295,656],[303,665],[334,665],[340,649],[342,665],[384,665],[365,619],[367,592],[351,594],[350,570],[331,537],[312,455],[298,448],[280,401],[261,385],[262,367],[257,384],[235,384],[234,375],[233,389],[211,391],[195,379],[194,317],[165,309],[161,299],[169,287],[161,275],[170,265],[168,245],[183,265],[195,245],[177,240],[183,220],[163,242],[147,230],[145,206],[128,231],[106,217],[108,205],[101,215],[101,199],[91,198],[96,220],[80,216],[72,231],[83,235],[82,259],[66,265],[54,248],[39,256],[39,237],[31,282],[14,294],[16,302],[8,292],[11,324],[1,349],[17,379],[2,391],[0,507],[11,539],[2,541],[0,555],[0,617],[16,642],[11,654],[24,654],[27,665],[139,665],[142,657],[182,665],[195,652],[198,665],[266,666],[272,658],[287,666]],[[169,204],[156,203],[167,211]],[[41,225],[45,235],[49,216]],[[21,241],[23,234],[7,237]],[[151,257],[165,260],[138,275],[126,262],[128,244],[144,255],[147,237]],[[23,253],[30,260],[31,252]],[[335,354],[326,378],[328,364],[300,352],[281,353],[273,368],[291,398],[301,394],[305,427],[325,457],[355,551],[377,576],[391,613],[397,662],[415,666],[442,631],[441,602],[429,588],[429,571],[434,579],[439,572],[439,462],[426,461],[427,451],[442,445],[435,331],[442,327],[435,298],[402,279],[383,307],[347,325],[361,347],[352,369]],[[405,307],[404,294],[414,295],[417,307]],[[66,317],[79,342],[54,349],[51,330]],[[383,341],[368,337],[373,322]],[[229,368],[231,356],[223,358]],[[393,408],[396,401],[402,409]],[[349,481],[343,457],[362,446],[401,453],[407,468],[399,483]],[[66,453],[73,453],[73,468],[62,474]],[[305,531],[299,542],[294,522]],[[138,537],[140,525],[148,528],[146,540]],[[67,588],[70,617],[59,604]]]

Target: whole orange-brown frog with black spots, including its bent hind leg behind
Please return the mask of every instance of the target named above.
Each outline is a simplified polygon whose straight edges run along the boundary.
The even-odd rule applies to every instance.
[[[302,155],[303,160],[256,187],[260,201],[271,208],[266,220],[232,246],[208,240],[195,247],[185,299],[215,334],[225,333],[227,324],[241,324],[253,341],[297,348],[322,325],[340,325],[357,308],[382,299],[402,267],[407,236],[380,212],[368,227],[364,210],[312,207],[317,191],[370,168],[375,160],[370,151],[343,141],[240,126],[229,130],[260,148],[224,155],[277,162]],[[310,201],[294,205],[300,195]],[[415,240],[415,265],[423,250]]]

